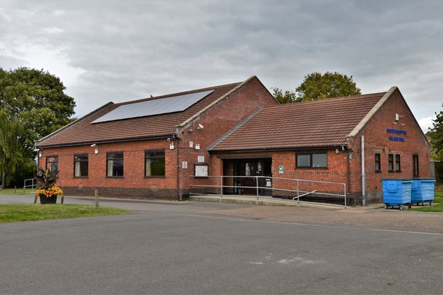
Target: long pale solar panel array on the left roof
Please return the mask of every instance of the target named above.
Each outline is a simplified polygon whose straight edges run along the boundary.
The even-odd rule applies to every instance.
[[[213,93],[213,90],[178,95],[174,97],[151,99],[145,102],[134,102],[133,104],[124,104],[123,106],[118,106],[118,108],[115,110],[102,115],[102,117],[99,117],[92,123],[182,112],[210,93]]]

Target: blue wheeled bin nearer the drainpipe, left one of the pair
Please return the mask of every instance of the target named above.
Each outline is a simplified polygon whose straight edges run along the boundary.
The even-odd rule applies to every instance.
[[[384,208],[398,206],[403,210],[403,206],[407,205],[410,209],[410,194],[412,180],[405,178],[382,179],[383,187],[383,204]]]

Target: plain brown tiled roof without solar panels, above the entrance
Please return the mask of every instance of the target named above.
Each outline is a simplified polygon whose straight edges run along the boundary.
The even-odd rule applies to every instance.
[[[385,93],[265,107],[210,151],[341,146]]]

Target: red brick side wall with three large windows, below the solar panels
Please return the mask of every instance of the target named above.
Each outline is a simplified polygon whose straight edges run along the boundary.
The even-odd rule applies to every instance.
[[[165,149],[165,177],[145,178],[145,150]],[[69,146],[56,149],[44,149],[39,166],[44,167],[46,155],[58,155],[59,179],[57,184],[64,189],[65,194],[93,195],[93,189],[99,189],[100,196],[121,196],[143,198],[143,195],[153,195],[159,191],[162,198],[177,198],[177,154],[176,149],[169,149],[166,140],[145,140],[139,142],[120,142],[114,144],[98,144],[98,154],[88,145]],[[107,178],[107,153],[123,151],[123,178]],[[74,178],[74,155],[87,153],[89,155],[88,178]],[[128,194],[122,188],[149,189],[134,191]],[[165,193],[168,192],[168,193]],[[168,195],[168,196],[165,196]]]

